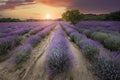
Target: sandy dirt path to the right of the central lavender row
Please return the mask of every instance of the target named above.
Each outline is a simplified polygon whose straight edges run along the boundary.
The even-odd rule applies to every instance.
[[[73,65],[74,68],[71,70],[73,80],[98,80],[91,71],[89,62],[83,56],[80,48],[69,40],[70,50],[74,54]]]

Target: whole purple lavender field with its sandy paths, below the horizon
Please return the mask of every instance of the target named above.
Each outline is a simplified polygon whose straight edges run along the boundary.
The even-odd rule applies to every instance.
[[[120,22],[0,23],[0,80],[120,80]]]

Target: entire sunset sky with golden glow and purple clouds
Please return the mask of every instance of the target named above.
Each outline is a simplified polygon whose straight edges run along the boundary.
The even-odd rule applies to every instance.
[[[105,14],[120,10],[120,0],[0,0],[0,17],[56,19],[67,9],[85,14]]]

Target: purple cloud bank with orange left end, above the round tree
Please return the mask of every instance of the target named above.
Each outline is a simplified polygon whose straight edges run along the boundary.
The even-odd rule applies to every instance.
[[[120,0],[36,0],[51,6],[65,6],[68,9],[79,9],[85,13],[106,13],[120,10]]]

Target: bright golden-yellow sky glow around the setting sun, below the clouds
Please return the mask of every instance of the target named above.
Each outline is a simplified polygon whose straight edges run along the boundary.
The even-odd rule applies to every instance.
[[[53,7],[42,3],[18,6],[15,9],[0,11],[0,17],[11,17],[19,19],[57,19],[61,18],[65,7]]]

